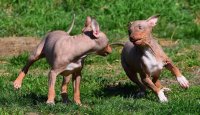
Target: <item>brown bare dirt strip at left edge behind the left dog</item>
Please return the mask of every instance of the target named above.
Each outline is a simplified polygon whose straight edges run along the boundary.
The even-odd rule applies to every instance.
[[[0,56],[15,56],[24,51],[33,51],[41,40],[35,37],[0,38]]]

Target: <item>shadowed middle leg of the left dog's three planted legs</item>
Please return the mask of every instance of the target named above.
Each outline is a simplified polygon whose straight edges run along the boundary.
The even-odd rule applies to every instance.
[[[62,86],[61,86],[61,96],[63,103],[69,103],[70,100],[68,98],[68,85],[70,82],[71,76],[63,76]]]

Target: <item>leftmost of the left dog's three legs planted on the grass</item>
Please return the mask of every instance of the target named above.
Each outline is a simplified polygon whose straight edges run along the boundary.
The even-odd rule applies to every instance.
[[[47,104],[55,104],[54,103],[54,98],[55,98],[55,82],[56,82],[56,76],[57,73],[54,70],[51,70],[49,72],[49,91],[48,91],[48,100],[47,100]]]

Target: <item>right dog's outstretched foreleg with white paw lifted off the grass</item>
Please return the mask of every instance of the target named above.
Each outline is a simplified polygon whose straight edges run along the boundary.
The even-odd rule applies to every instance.
[[[183,88],[189,88],[188,80],[181,74],[180,70],[172,64],[172,62],[167,62],[165,66],[171,73],[176,76],[177,81]]]

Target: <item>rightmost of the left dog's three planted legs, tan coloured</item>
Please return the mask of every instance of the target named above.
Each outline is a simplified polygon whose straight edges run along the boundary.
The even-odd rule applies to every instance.
[[[72,80],[73,80],[73,89],[74,89],[74,102],[78,105],[81,105],[81,101],[80,101],[81,71],[73,73]]]

